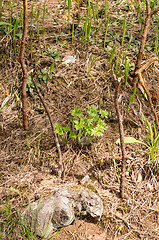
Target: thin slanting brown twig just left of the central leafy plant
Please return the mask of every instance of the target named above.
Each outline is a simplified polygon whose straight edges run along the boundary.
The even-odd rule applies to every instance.
[[[64,167],[63,167],[63,163],[62,163],[62,153],[61,153],[61,148],[60,148],[59,140],[58,140],[58,137],[57,137],[57,134],[56,134],[56,131],[55,131],[54,124],[53,124],[52,119],[51,119],[50,112],[49,112],[49,110],[48,110],[48,108],[47,108],[47,106],[46,106],[46,104],[45,104],[45,102],[44,102],[44,100],[43,100],[43,97],[42,97],[42,95],[41,95],[41,93],[40,93],[40,91],[39,91],[39,89],[38,89],[38,87],[37,87],[37,85],[36,85],[36,83],[35,83],[35,81],[34,81],[33,76],[32,76],[32,82],[33,82],[33,84],[34,84],[34,86],[35,86],[35,89],[36,89],[36,91],[37,91],[37,94],[38,94],[38,96],[39,96],[39,98],[40,98],[40,100],[41,100],[41,102],[42,102],[42,104],[43,104],[43,106],[44,106],[44,108],[45,108],[45,111],[46,111],[46,113],[47,113],[47,115],[48,115],[48,118],[49,118],[49,121],[50,121],[50,125],[51,125],[51,128],[52,128],[53,134],[54,134],[54,136],[55,136],[56,147],[57,147],[57,151],[58,151],[58,155],[59,155],[59,161],[58,161],[58,177],[61,179],[62,174],[63,174],[63,171],[64,171]]]

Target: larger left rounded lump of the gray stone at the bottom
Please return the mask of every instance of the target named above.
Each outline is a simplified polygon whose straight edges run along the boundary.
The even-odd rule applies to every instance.
[[[74,220],[74,211],[69,198],[65,196],[51,196],[41,201],[32,203],[23,214],[25,226],[32,225],[32,232],[38,236],[47,237],[53,230],[65,227]]]

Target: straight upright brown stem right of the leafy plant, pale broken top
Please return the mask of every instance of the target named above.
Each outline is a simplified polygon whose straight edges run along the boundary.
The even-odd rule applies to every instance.
[[[116,77],[114,77],[116,79]],[[124,198],[124,186],[125,186],[125,143],[124,143],[124,128],[122,123],[122,116],[119,109],[118,96],[120,90],[120,81],[116,80],[116,89],[115,89],[115,109],[118,117],[119,124],[119,133],[120,133],[120,146],[122,151],[122,165],[121,165],[121,174],[120,174],[120,197]]]

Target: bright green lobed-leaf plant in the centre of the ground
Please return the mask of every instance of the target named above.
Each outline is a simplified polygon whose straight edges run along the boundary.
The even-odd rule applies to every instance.
[[[81,143],[84,137],[88,142],[91,142],[93,137],[103,135],[107,128],[103,119],[107,118],[107,116],[108,112],[106,110],[98,110],[94,105],[87,106],[86,116],[76,107],[71,112],[71,127],[62,127],[59,123],[55,123],[54,126],[56,133],[64,141],[67,141],[69,138],[76,138]]]

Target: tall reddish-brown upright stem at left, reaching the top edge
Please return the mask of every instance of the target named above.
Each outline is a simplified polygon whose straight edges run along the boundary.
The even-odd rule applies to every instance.
[[[23,126],[25,130],[28,130],[28,120],[27,120],[27,93],[26,93],[26,86],[27,86],[27,70],[26,65],[24,62],[24,51],[25,51],[25,38],[27,35],[27,0],[23,0],[23,36],[21,42],[21,51],[20,51],[20,62],[23,72],[23,83],[22,83],[22,112],[23,112]]]

